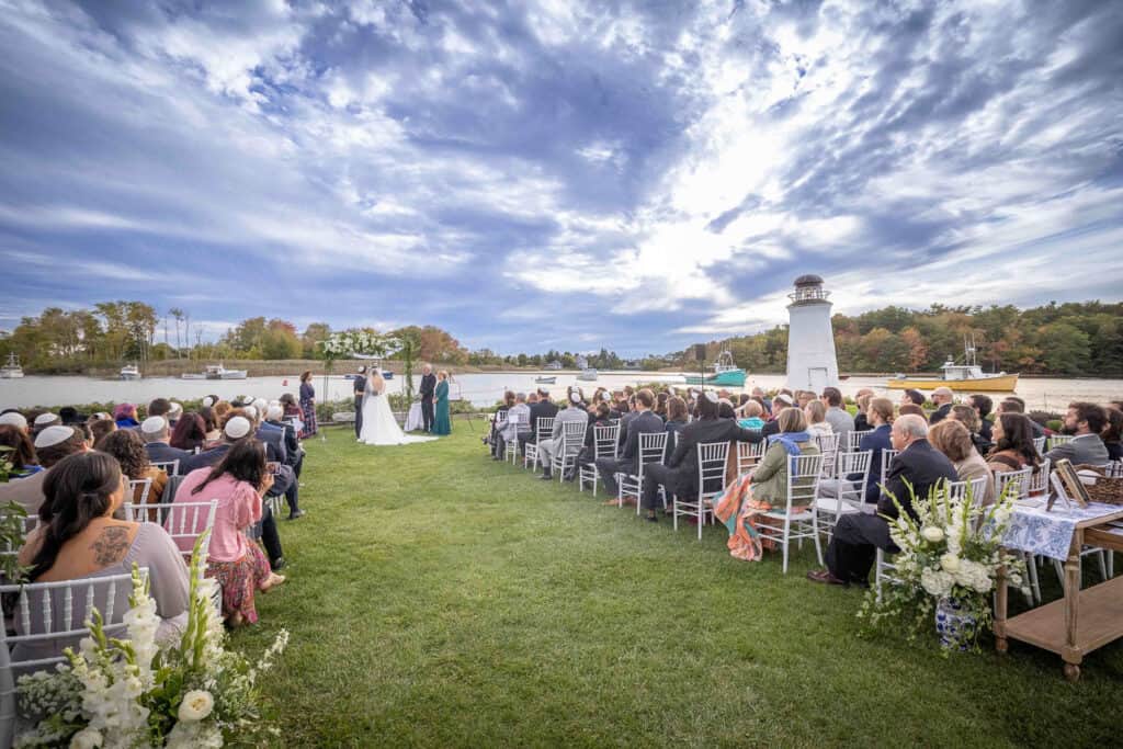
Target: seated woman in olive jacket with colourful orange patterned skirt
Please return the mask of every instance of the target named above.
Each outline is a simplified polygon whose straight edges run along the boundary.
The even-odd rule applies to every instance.
[[[807,431],[804,412],[787,408],[776,417],[779,431],[768,437],[765,456],[750,473],[730,484],[725,493],[714,500],[714,517],[729,530],[729,554],[746,561],[759,561],[764,546],[773,546],[757,532],[759,523],[770,523],[765,513],[787,506],[787,458],[798,455],[819,455],[819,446]],[[810,504],[801,501],[800,506]],[[796,505],[793,504],[793,511]]]

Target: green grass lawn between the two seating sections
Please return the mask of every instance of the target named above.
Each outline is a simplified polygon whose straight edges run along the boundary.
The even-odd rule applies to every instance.
[[[439,442],[310,440],[282,522],[289,582],[238,632],[291,633],[268,676],[279,743],[313,746],[1111,746],[1123,645],[1079,684],[1060,659],[941,657],[859,639],[861,593],[814,585],[805,546],[725,551],[725,531],[643,522],[575,485]],[[477,429],[480,427],[477,426]],[[602,493],[603,497],[603,493]],[[1051,567],[1042,570],[1058,595]],[[1012,610],[1021,604],[1011,596]]]

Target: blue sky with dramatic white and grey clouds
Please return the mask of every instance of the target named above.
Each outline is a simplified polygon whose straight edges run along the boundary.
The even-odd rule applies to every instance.
[[[1111,0],[0,0],[0,328],[640,354],[801,273],[843,312],[1123,298]]]

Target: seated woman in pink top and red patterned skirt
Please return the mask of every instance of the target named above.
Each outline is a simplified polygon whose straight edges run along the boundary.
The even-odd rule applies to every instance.
[[[265,445],[253,437],[234,442],[213,468],[192,471],[175,492],[175,502],[218,500],[211,530],[207,576],[222,586],[222,615],[231,627],[257,621],[256,591],[268,591],[284,582],[270,569],[261,548],[246,537],[246,529],[262,519],[262,497],[273,486],[266,469]],[[203,531],[199,518],[197,532]],[[177,539],[185,546],[186,539]],[[188,549],[184,548],[184,551]]]

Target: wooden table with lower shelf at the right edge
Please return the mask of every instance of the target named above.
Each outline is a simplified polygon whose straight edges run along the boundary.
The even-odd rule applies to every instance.
[[[998,652],[1006,652],[1011,639],[1051,650],[1063,659],[1065,677],[1076,682],[1084,656],[1123,637],[1123,577],[1080,590],[1080,550],[1089,544],[1123,551],[1123,536],[1106,530],[1107,523],[1120,519],[1123,508],[1076,524],[1065,560],[1065,597],[1060,601],[1007,620],[1006,569],[999,567],[994,615]]]

